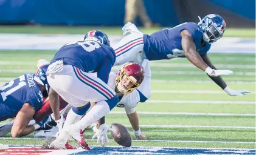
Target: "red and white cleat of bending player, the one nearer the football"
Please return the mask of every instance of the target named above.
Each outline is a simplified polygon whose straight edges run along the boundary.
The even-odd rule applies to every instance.
[[[86,143],[85,138],[83,137],[83,131],[80,129],[80,132],[77,132],[77,130],[71,130],[72,128],[70,128],[70,130],[67,131],[67,134],[72,137],[72,139],[75,140],[75,142],[77,142],[77,144],[81,147],[84,148],[86,150],[90,150],[90,147],[88,145],[88,143]]]

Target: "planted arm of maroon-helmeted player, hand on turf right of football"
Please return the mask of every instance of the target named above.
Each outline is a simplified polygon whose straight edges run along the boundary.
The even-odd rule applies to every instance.
[[[135,108],[130,109],[130,110],[127,110],[125,108],[125,111],[126,111],[127,117],[130,120],[131,127],[133,127],[133,132],[134,132],[134,135],[136,136],[136,138],[137,139],[147,139],[147,136],[145,136],[145,134],[140,131],[139,116],[138,116]]]

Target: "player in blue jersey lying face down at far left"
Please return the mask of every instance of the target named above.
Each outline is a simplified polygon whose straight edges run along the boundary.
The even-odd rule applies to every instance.
[[[43,97],[48,96],[47,67],[48,64],[41,65],[36,74],[23,74],[0,86],[0,121],[15,117],[12,137],[30,134],[42,125],[28,124],[42,106]]]

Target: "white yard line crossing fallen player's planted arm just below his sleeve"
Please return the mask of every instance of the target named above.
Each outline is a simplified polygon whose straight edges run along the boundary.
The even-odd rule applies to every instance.
[[[256,116],[256,114],[230,114],[230,113],[188,113],[188,112],[155,112],[137,111],[138,114],[170,114],[170,115],[195,115],[195,116]],[[126,114],[125,111],[110,111],[109,114]]]

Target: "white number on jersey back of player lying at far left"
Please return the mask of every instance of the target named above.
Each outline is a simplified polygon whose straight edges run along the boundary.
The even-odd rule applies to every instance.
[[[16,79],[19,79],[19,83],[18,85],[16,85],[13,88],[10,88],[8,91],[6,91],[7,88],[12,87],[14,84],[14,81]],[[7,83],[6,85],[4,85],[4,87],[0,87],[0,90],[2,90],[3,92],[1,93],[2,96],[2,100],[5,101],[5,99],[7,99],[7,96],[9,94],[12,94],[13,92],[15,92],[16,90],[18,90],[19,88],[23,87],[26,85],[25,82],[25,75],[19,76],[16,79],[14,79],[13,81],[10,81],[9,83]]]

